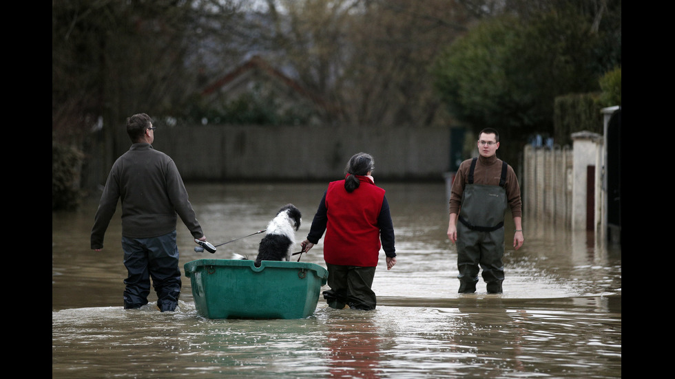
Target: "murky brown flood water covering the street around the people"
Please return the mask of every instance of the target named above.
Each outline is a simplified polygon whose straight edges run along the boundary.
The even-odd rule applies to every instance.
[[[154,294],[123,310],[119,211],[101,252],[89,240],[98,199],[52,213],[52,378],[621,378],[621,246],[525,217],[525,245],[506,246],[504,293],[486,294],[481,279],[476,294],[459,295],[445,184],[377,184],[398,254],[391,271],[381,255],[377,309],[333,310],[320,299],[298,320],[203,318],[187,277],[176,312],[159,312]],[[289,202],[303,213],[302,241],[325,187],[187,184],[214,244],[264,229]],[[262,237],[211,255],[194,252],[180,221],[177,230],[184,275],[195,259],[254,257]],[[302,261],[325,267],[322,248]]]

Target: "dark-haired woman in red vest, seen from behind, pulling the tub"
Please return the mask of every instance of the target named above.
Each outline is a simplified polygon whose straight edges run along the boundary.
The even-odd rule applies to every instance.
[[[324,260],[331,290],[324,291],[324,299],[333,308],[374,310],[377,301],[371,286],[380,247],[387,270],[396,264],[389,204],[384,189],[375,186],[373,165],[373,157],[366,153],[349,160],[344,180],[329,183],[301,243],[307,252],[326,232]]]

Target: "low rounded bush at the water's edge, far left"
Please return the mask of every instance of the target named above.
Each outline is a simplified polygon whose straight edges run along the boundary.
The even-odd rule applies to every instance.
[[[52,143],[52,211],[74,210],[79,206],[83,157],[78,149]]]

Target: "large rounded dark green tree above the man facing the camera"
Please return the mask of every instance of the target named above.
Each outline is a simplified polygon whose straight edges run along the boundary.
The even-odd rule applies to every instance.
[[[510,15],[484,21],[439,58],[436,87],[474,131],[551,133],[556,96],[599,89],[599,74],[590,69],[596,38],[588,26],[566,12],[528,22]]]

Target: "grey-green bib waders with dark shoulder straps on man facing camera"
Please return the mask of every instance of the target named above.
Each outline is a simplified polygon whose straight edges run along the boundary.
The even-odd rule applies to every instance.
[[[477,158],[471,162],[468,183],[464,187],[457,223],[457,268],[459,293],[476,292],[479,266],[488,293],[501,293],[504,268],[503,221],[506,214],[506,162],[503,162],[499,186],[473,184]]]

